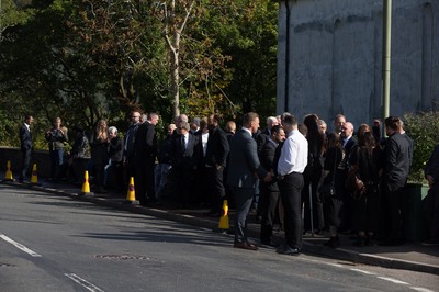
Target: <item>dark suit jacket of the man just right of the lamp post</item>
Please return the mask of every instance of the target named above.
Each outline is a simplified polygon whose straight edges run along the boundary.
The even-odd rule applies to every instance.
[[[385,142],[384,183],[396,191],[406,183],[410,167],[410,145],[399,133],[393,133]]]

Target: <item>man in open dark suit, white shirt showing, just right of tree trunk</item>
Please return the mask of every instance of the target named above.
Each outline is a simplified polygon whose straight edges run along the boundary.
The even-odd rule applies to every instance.
[[[173,194],[178,206],[188,205],[191,186],[193,186],[193,171],[196,169],[199,159],[199,136],[190,132],[188,122],[181,122],[178,138],[172,139],[171,144],[171,165],[172,173],[177,179],[178,189]]]

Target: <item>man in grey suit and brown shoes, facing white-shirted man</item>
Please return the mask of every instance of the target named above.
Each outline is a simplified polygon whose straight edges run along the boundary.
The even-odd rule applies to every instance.
[[[246,113],[243,127],[230,142],[228,184],[236,202],[235,244],[234,247],[257,250],[258,247],[247,240],[247,214],[251,206],[255,193],[256,177],[271,181],[271,173],[267,172],[259,162],[257,144],[252,134],[259,128],[259,115]]]

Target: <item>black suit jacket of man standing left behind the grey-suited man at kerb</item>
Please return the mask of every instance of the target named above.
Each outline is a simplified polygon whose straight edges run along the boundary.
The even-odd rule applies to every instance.
[[[207,166],[225,167],[229,151],[226,134],[221,127],[214,127],[209,131],[207,149],[205,162]]]

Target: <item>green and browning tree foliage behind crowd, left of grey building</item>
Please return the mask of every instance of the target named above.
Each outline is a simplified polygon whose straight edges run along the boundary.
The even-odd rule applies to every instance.
[[[16,2],[16,1],[15,1]],[[169,5],[172,1],[162,1]],[[274,113],[277,13],[269,0],[195,3],[181,36],[181,112]],[[164,9],[154,1],[2,0],[0,144],[18,146],[25,113],[37,148],[55,116],[71,128],[106,119],[122,132],[131,109],[172,120]],[[160,14],[161,13],[161,14]],[[172,24],[169,22],[168,24]]]

